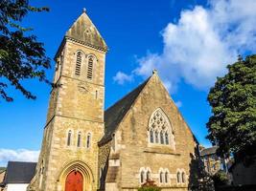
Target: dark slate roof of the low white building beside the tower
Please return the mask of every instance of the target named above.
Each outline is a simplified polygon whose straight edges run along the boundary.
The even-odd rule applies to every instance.
[[[35,176],[36,162],[9,161],[4,183],[29,183]]]

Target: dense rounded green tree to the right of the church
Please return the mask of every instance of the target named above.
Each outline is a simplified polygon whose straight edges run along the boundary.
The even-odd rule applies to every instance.
[[[227,69],[208,95],[213,115],[207,138],[219,145],[222,157],[233,153],[244,159],[256,151],[256,55],[239,56]]]

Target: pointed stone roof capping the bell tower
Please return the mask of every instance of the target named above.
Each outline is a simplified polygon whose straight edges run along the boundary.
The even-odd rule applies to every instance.
[[[66,32],[65,37],[77,40],[87,46],[107,51],[105,40],[85,11],[82,11],[81,16]]]

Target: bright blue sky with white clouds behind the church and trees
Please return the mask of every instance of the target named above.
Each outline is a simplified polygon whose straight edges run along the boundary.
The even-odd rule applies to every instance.
[[[105,107],[157,69],[198,141],[206,146],[211,115],[207,93],[238,53],[255,53],[255,1],[244,0],[44,0],[31,1],[50,12],[31,13],[33,27],[53,58],[64,33],[86,8],[109,47],[106,55]],[[240,11],[239,15],[237,11]],[[248,40],[250,39],[250,40]],[[47,76],[52,79],[52,70]],[[27,100],[9,89],[12,103],[0,106],[0,165],[8,159],[35,160],[40,149],[50,87],[35,80],[24,85]]]

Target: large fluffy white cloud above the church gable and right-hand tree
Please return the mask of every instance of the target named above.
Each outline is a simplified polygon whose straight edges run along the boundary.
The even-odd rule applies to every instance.
[[[181,79],[207,90],[238,54],[256,51],[255,10],[255,0],[210,0],[207,8],[181,11],[161,32],[162,53],[139,58],[131,74],[146,77],[157,69],[171,93]]]

